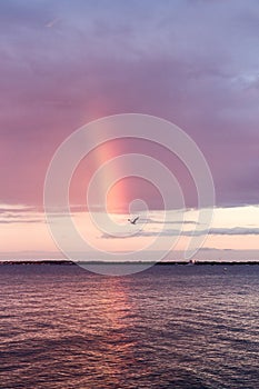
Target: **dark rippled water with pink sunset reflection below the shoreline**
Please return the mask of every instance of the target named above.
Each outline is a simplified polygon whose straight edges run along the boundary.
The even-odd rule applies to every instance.
[[[0,388],[259,388],[259,266],[0,267]]]

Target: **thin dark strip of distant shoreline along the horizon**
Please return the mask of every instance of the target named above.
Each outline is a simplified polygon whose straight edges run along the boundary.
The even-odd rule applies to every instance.
[[[4,266],[4,265],[11,265],[11,266],[21,266],[21,265],[34,265],[34,266],[39,266],[39,265],[51,265],[51,266],[77,266],[77,265],[139,265],[139,266],[143,266],[143,265],[150,265],[150,266],[203,266],[203,265],[210,265],[210,266],[233,266],[233,265],[250,265],[250,266],[255,266],[255,265],[259,265],[259,260],[258,261],[196,261],[193,262],[187,262],[187,261],[167,261],[167,262],[148,262],[148,261],[131,261],[131,262],[106,262],[106,261],[78,261],[78,262],[72,262],[70,260],[6,260],[6,261],[0,261],[0,266]]]

